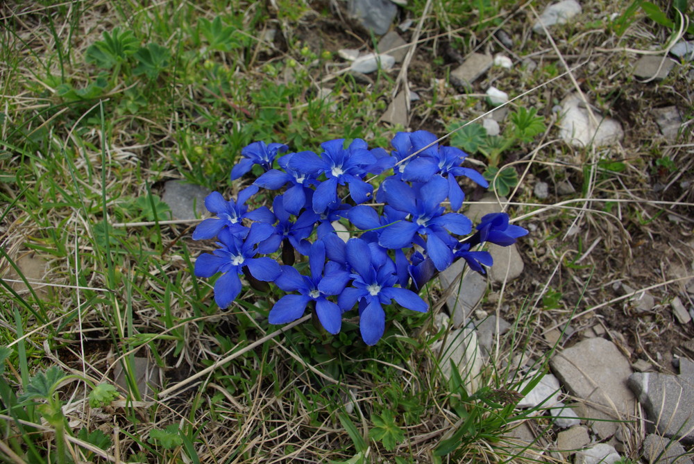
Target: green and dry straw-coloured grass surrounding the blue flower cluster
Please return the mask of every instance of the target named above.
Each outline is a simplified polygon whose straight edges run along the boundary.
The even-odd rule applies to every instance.
[[[615,280],[653,292],[677,284],[660,273],[667,260],[643,250],[647,243],[672,262],[691,261],[686,248],[668,248],[673,229],[691,233],[694,194],[683,182],[693,178],[686,121],[694,106],[679,103],[691,98],[683,84],[691,65],[656,87],[634,83],[620,74],[632,61],[623,47],[648,49],[670,31],[627,5],[592,3],[601,16],[552,29],[555,44],[530,32],[530,6],[435,0],[405,9],[417,19],[430,11],[409,65],[410,86],[423,96],[412,102],[413,130],[445,135],[488,110],[484,97],[461,97],[448,85],[457,63],[447,46],[463,55],[484,46],[501,51],[494,34],[504,28],[518,42],[514,61],[537,64],[518,73],[492,68],[484,78],[523,94],[511,113],[531,107],[541,119],[542,130],[531,135],[509,135],[513,126],[502,122],[508,143],[493,160],[517,168],[509,205],[518,223],[534,229],[521,244],[525,277],[491,287],[480,307],[513,320],[511,330],[479,371],[452,369],[450,378],[441,361],[450,327],[437,324],[446,289],[428,287],[422,295],[436,310],[393,316],[371,348],[353,321],[335,337],[305,319],[269,325],[276,291],[245,289],[220,311],[212,282],[192,275],[209,244],[190,240],[189,223],[168,221],[160,200],[170,178],[239,191],[229,172],[255,140],[301,151],[360,137],[387,148],[396,130],[379,117],[397,74],[378,72],[364,84],[337,58],[339,48],[372,49],[372,37],[336,22],[320,2],[1,7],[0,459],[558,459],[543,451],[557,431],[546,409],[514,408],[559,347],[543,338],[550,327],[576,334],[600,320],[652,360],[680,354],[679,341],[692,334],[672,325],[664,307],[627,325],[618,306],[625,298],[610,290]],[[613,12],[621,16],[602,19]],[[564,74],[560,58],[582,65]],[[330,87],[330,97],[316,98],[321,87]],[[625,123],[621,146],[575,148],[553,138],[552,106],[579,89]],[[677,141],[657,135],[648,101],[683,108]],[[492,164],[483,153],[473,156],[475,165]],[[568,180],[578,193],[538,202],[537,180],[550,188]],[[665,186],[663,193],[654,195],[647,182]],[[680,222],[668,222],[668,214]],[[148,225],[134,225],[142,222]],[[567,236],[572,225],[580,232]],[[28,259],[37,273],[29,275]],[[654,262],[658,272],[643,270]],[[152,373],[149,386],[138,366]],[[666,361],[659,368],[668,370]],[[539,432],[531,442],[513,435],[526,423]],[[638,446],[630,443],[624,455],[638,459]]]

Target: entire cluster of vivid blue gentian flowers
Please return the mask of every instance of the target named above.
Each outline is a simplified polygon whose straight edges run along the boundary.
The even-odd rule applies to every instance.
[[[196,227],[193,239],[217,238],[212,254],[203,253],[195,275],[221,276],[214,300],[228,307],[241,293],[240,275],[273,282],[287,292],[269,313],[271,324],[301,318],[315,310],[330,334],[341,329],[343,314],[358,308],[359,331],[367,345],[385,329],[384,306],[393,300],[413,311],[427,311],[416,293],[455,259],[465,259],[477,272],[491,266],[489,252],[475,251],[483,242],[509,246],[527,234],[509,224],[505,213],[488,214],[473,233],[460,209],[464,194],[458,178],[488,187],[477,171],[460,166],[467,156],[458,148],[439,146],[430,132],[399,132],[390,153],[369,149],[362,139],[344,139],[312,151],[286,153],[286,145],[254,142],[242,151],[231,179],[257,164],[264,173],[236,200],[218,192],[205,198],[217,216]],[[378,188],[369,180],[379,179]],[[279,191],[272,209],[249,211],[248,200],[262,189]],[[443,205],[446,200],[450,211]],[[335,221],[347,220],[358,236],[344,241]],[[343,221],[346,224],[346,221]],[[280,251],[281,248],[281,251]],[[293,266],[296,255],[307,259],[309,275]],[[258,255],[261,255],[260,257]],[[282,266],[271,256],[281,256]]]

